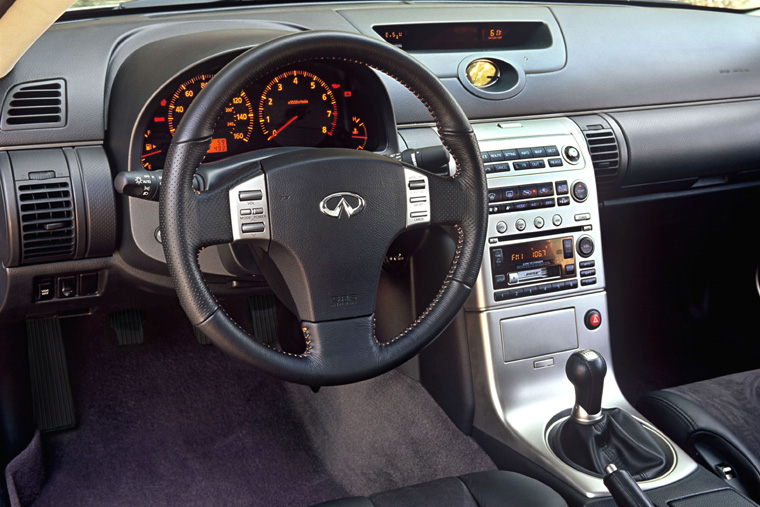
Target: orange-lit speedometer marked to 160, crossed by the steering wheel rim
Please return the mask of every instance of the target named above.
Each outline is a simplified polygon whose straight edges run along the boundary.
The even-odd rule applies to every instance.
[[[169,101],[169,132],[174,132],[195,97],[206,86],[213,74],[201,74],[182,83]],[[245,91],[232,98],[216,123],[209,153],[237,152],[241,144],[251,140],[254,116],[253,105]]]

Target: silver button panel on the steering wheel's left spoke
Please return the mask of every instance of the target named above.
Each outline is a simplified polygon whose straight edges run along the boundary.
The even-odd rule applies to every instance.
[[[269,204],[264,174],[259,173],[233,187],[229,196],[233,239],[269,239]]]

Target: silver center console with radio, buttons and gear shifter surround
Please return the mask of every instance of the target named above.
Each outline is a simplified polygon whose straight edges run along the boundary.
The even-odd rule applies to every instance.
[[[609,496],[602,474],[558,456],[550,442],[558,428],[570,428],[567,421],[584,415],[576,406],[571,418],[577,405],[565,375],[571,354],[593,349],[612,357],[599,202],[586,138],[568,118],[473,128],[489,189],[484,261],[465,312],[474,426],[584,497]],[[641,488],[691,475],[694,461],[628,404],[611,361],[607,368],[601,407],[625,412],[633,421],[628,424],[640,425],[665,456],[656,474],[639,481]]]

